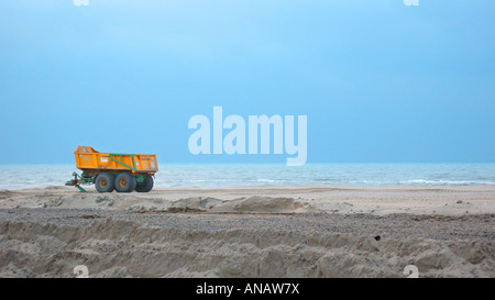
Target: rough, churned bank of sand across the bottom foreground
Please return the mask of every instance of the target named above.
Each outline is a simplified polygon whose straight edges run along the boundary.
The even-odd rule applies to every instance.
[[[375,241],[321,232],[0,222],[0,277],[494,277],[492,241]]]

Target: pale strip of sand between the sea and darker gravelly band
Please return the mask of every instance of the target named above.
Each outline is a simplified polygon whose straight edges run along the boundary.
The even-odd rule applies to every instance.
[[[211,210],[211,212],[230,210],[239,213],[243,212],[242,210],[271,212],[271,205],[285,207],[273,208],[274,212],[277,210],[278,212],[316,210],[329,213],[372,213],[378,215],[391,213],[436,215],[495,213],[495,186],[169,188],[156,189],[150,193],[98,193],[94,188],[88,188],[88,191],[82,193],[74,188],[66,187],[19,191],[2,190],[0,191],[0,209],[96,208],[153,211],[167,210],[168,208],[178,210],[189,203],[188,209],[193,210]],[[208,207],[215,205],[216,208],[201,207],[200,203],[196,203],[197,200],[210,201]],[[277,201],[284,203],[275,204]]]

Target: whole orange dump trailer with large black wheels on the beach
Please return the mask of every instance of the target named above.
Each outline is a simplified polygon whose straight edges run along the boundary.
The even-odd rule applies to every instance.
[[[78,146],[74,152],[76,166],[82,171],[74,173],[74,179],[66,186],[95,184],[99,192],[148,192],[153,188],[153,177],[158,171],[156,155],[100,153],[92,147]]]

